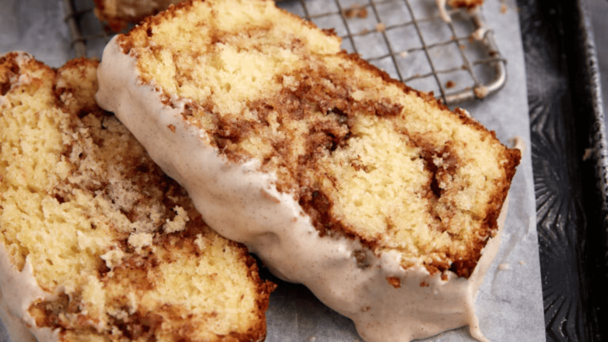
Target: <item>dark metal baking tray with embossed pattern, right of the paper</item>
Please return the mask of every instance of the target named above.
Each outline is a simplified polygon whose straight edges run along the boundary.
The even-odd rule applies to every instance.
[[[517,5],[547,341],[606,341],[608,144],[586,2]]]

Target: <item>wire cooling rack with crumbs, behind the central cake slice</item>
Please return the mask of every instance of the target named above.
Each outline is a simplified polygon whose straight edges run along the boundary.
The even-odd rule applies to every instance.
[[[454,105],[484,99],[506,83],[506,60],[480,10],[451,9],[441,18],[432,0],[287,0],[279,7],[334,29],[342,47],[393,78],[433,91]],[[92,1],[64,0],[77,57],[100,57],[112,33]],[[83,8],[80,8],[83,7]]]

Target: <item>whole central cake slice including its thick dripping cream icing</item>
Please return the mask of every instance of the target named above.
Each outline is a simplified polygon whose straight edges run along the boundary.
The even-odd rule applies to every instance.
[[[98,103],[213,229],[367,341],[469,324],[519,150],[272,1],[171,7],[106,46]]]

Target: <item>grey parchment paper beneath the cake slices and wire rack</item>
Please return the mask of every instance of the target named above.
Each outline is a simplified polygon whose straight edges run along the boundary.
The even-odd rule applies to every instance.
[[[367,3],[367,0],[340,1],[345,4],[344,7]],[[394,0],[395,5],[401,1]],[[410,0],[415,10],[421,11],[436,11],[434,3],[433,0]],[[309,9],[323,10],[323,6],[333,2],[306,0],[306,4]],[[294,9],[297,13],[297,5],[288,2],[283,6]],[[27,51],[38,60],[54,67],[63,65],[72,57],[69,30],[63,21],[63,1],[0,0],[0,8],[0,54],[14,50]],[[510,139],[518,136],[523,139],[526,148],[511,186],[510,207],[502,234],[502,245],[475,302],[477,315],[482,332],[492,342],[545,341],[530,153],[530,122],[517,8],[514,0],[486,0],[482,13],[488,27],[494,30],[500,53],[508,60],[508,81],[497,94],[481,101],[462,103],[460,106],[486,127],[496,131],[497,137],[505,144],[509,144]],[[396,16],[405,14],[394,12]],[[332,21],[319,20],[317,24],[330,27]],[[429,26],[438,27],[440,24]],[[338,33],[339,30],[340,27],[337,27]],[[432,29],[429,30],[429,33],[433,34]],[[407,43],[409,37],[403,36],[403,39]],[[345,48],[349,49],[348,46]],[[92,47],[91,51],[100,51],[100,48]],[[370,46],[368,51],[373,53],[373,46]],[[380,61],[377,64],[394,74],[391,65],[382,63]],[[416,63],[411,65],[426,68]],[[412,68],[411,72],[414,74],[419,71]],[[424,81],[412,82],[410,85],[425,91],[437,90],[432,83]],[[361,341],[348,318],[325,307],[305,287],[277,282],[279,287],[271,296],[267,314],[266,341]],[[1,325],[0,341],[9,341]],[[468,329],[461,328],[424,341],[474,340],[469,336]]]

